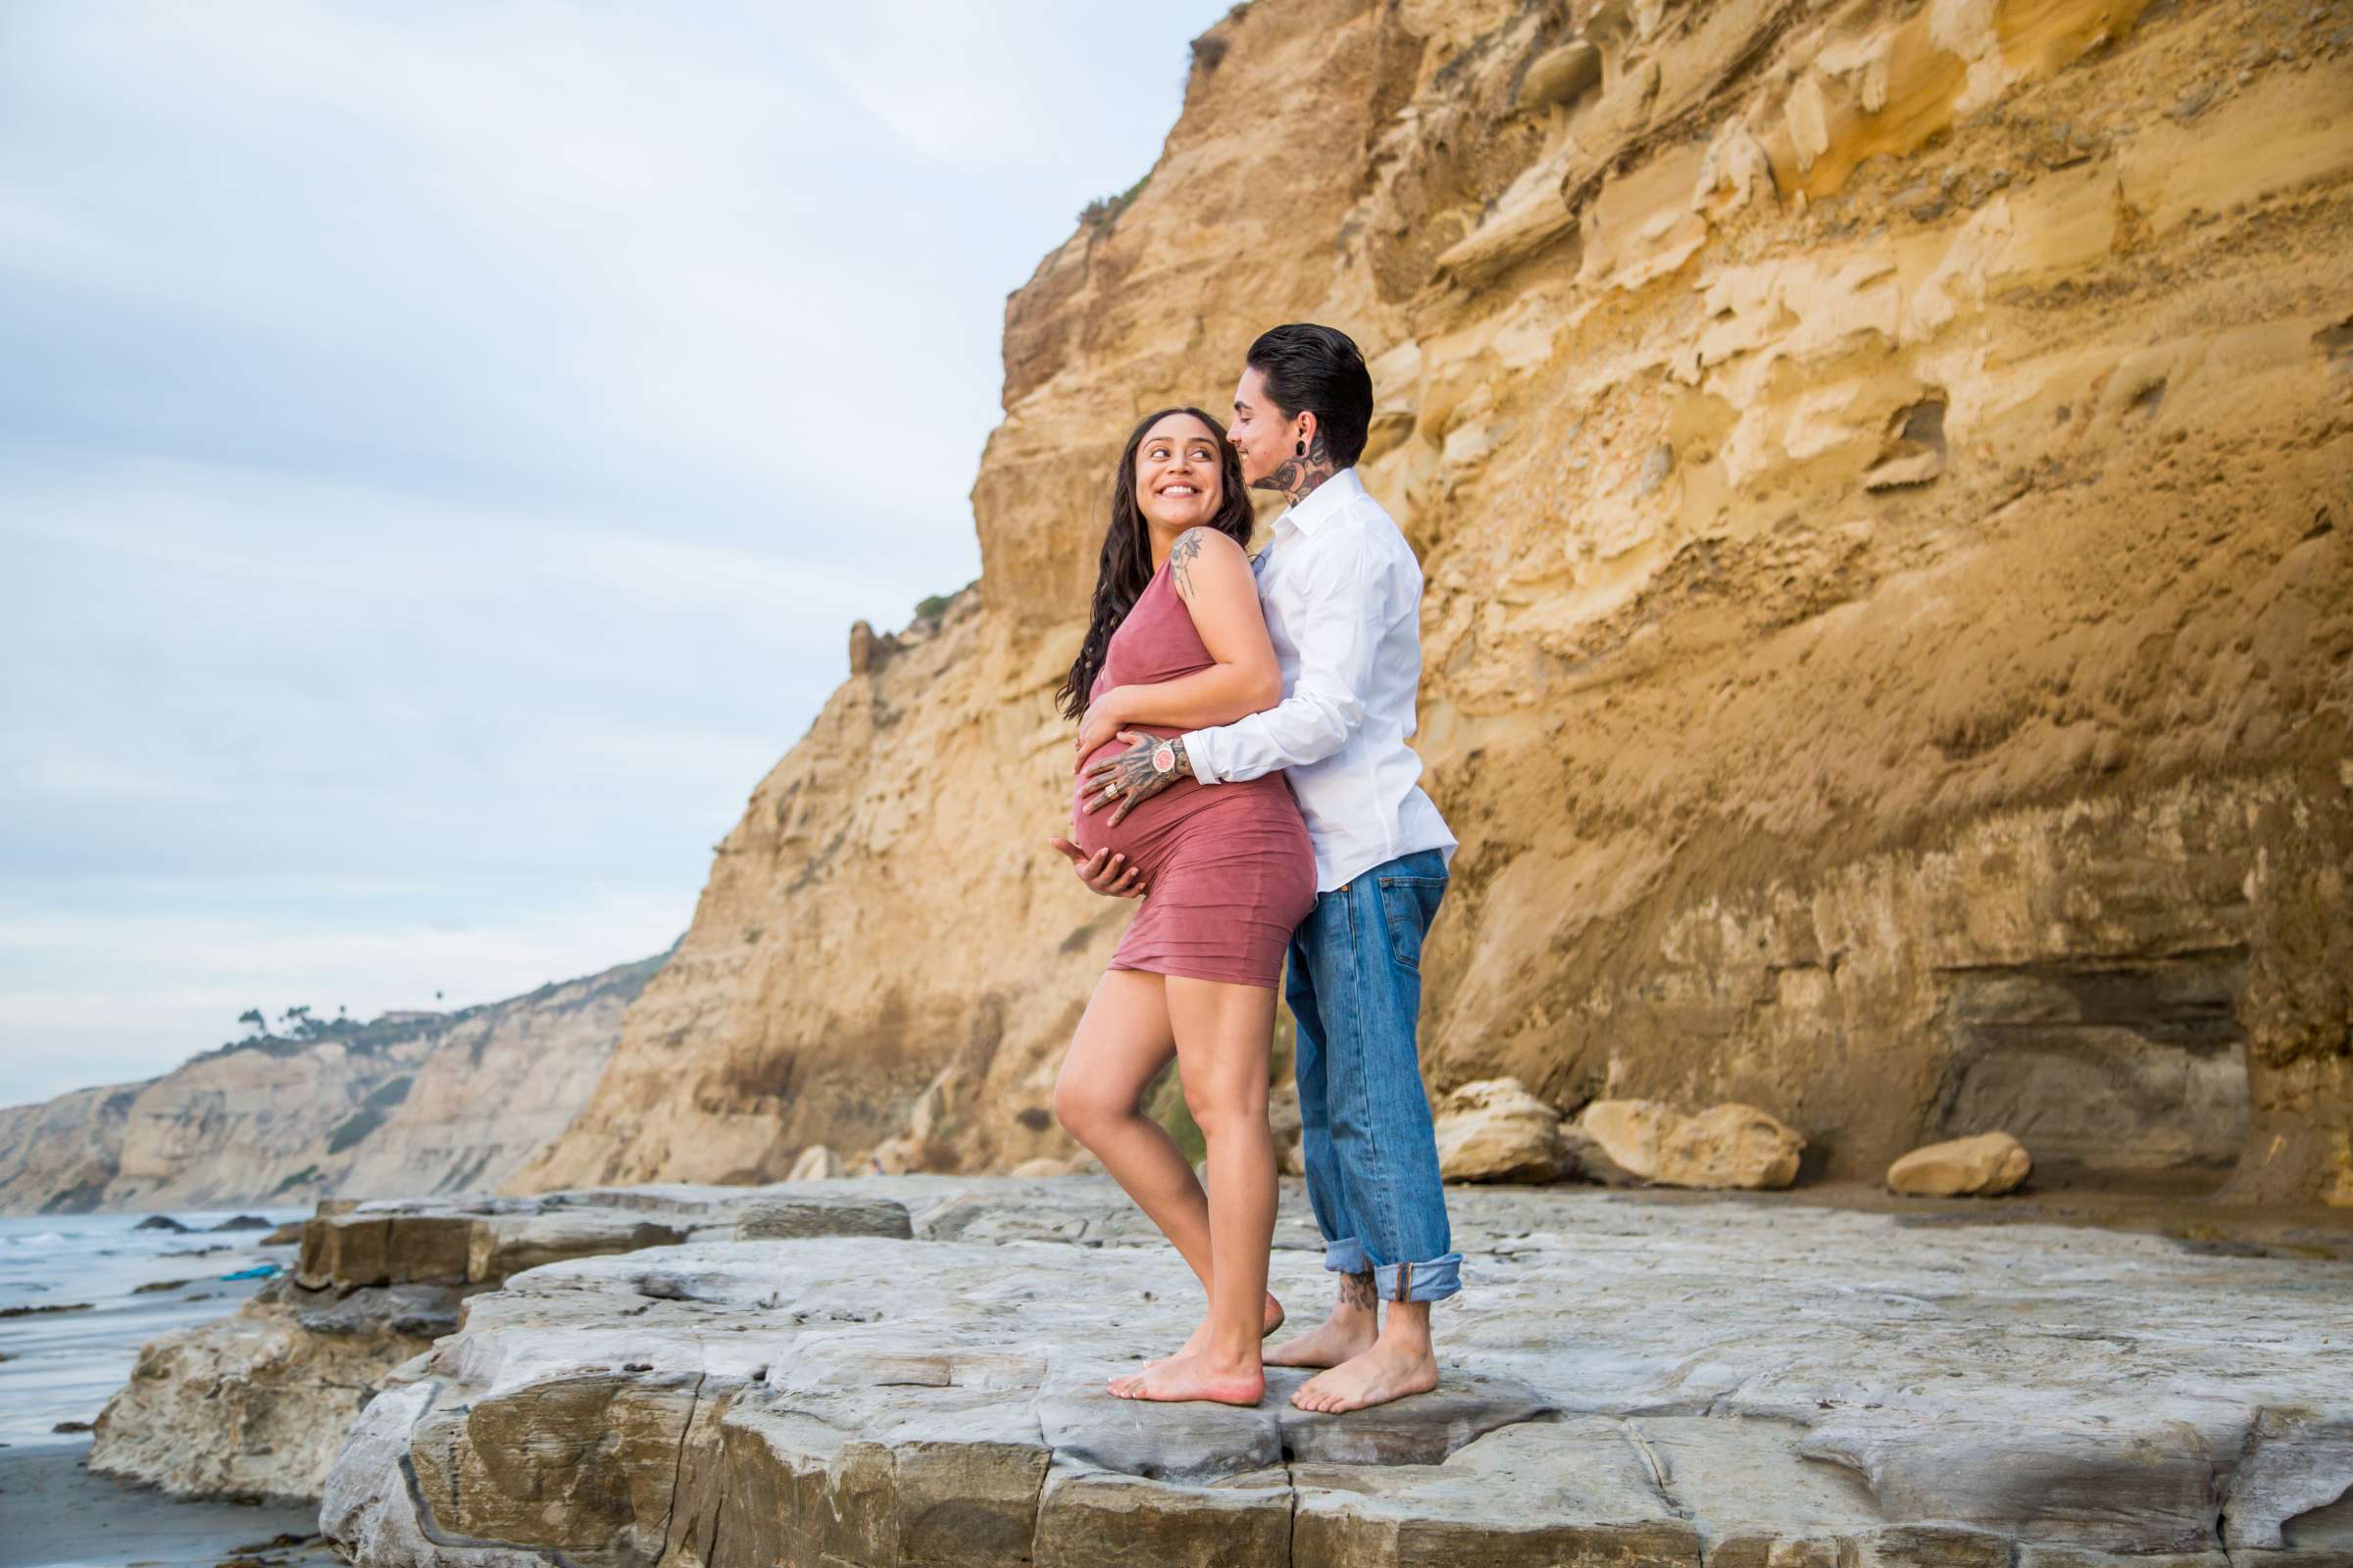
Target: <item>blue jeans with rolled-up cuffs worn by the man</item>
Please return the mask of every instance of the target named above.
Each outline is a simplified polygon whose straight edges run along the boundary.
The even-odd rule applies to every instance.
[[[1285,999],[1299,1020],[1299,1121],[1325,1267],[1372,1274],[1384,1300],[1461,1291],[1421,1093],[1421,938],[1447,893],[1435,849],[1329,893],[1292,931]]]

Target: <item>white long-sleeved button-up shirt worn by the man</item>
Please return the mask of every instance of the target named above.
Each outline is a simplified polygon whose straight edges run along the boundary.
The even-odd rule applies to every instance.
[[[1454,835],[1421,792],[1414,689],[1421,684],[1421,564],[1346,468],[1275,520],[1257,559],[1282,701],[1184,738],[1202,783],[1287,769],[1315,844],[1315,891]]]

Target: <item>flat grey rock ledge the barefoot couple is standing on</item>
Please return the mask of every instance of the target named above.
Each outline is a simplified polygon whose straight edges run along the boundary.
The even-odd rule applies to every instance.
[[[471,1295],[360,1410],[327,1535],[452,1568],[2353,1563],[2341,1260],[1454,1194],[1438,1394],[1334,1418],[1297,1373],[1254,1410],[1101,1392],[1198,1309],[1108,1182],[835,1187],[866,1234],[739,1213]],[[1299,1232],[1275,1288],[1311,1316]]]

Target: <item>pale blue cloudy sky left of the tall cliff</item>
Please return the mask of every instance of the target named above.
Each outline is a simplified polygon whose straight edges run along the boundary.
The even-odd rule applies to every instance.
[[[0,1105],[668,947],[1224,9],[0,7]]]

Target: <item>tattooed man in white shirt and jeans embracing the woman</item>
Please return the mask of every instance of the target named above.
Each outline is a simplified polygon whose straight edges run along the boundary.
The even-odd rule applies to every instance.
[[[1294,324],[1252,343],[1231,437],[1249,487],[1292,503],[1259,557],[1285,696],[1169,745],[1134,736],[1087,773],[1125,813],[1179,773],[1226,783],[1285,769],[1306,816],[1318,896],[1292,933],[1285,997],[1299,1020],[1308,1201],[1339,1300],[1320,1328],[1266,1354],[1327,1368],[1292,1396],[1304,1410],[1438,1387],[1431,1302],[1461,1288],[1414,1039],[1421,938],[1454,835],[1405,745],[1421,684],[1421,567],[1355,473],[1369,423],[1372,376],[1346,334]],[[1101,858],[1078,870],[1096,891],[1136,891]],[[1377,1302],[1388,1302],[1386,1321]]]

